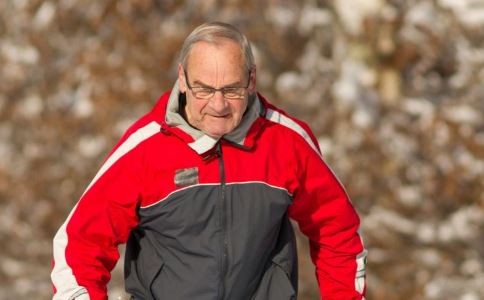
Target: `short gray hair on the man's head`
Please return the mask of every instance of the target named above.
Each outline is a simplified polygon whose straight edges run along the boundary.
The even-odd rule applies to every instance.
[[[222,22],[204,23],[195,28],[195,30],[193,30],[183,42],[179,58],[180,64],[186,70],[188,56],[195,43],[203,41],[211,44],[218,44],[220,43],[220,39],[223,38],[232,40],[240,45],[240,50],[245,61],[245,67],[248,72],[252,70],[255,66],[255,62],[249,40],[235,26]]]

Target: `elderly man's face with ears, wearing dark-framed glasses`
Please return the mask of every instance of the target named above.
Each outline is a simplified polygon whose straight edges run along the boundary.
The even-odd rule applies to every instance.
[[[249,93],[255,91],[255,70],[251,74],[249,78],[240,47],[235,42],[196,43],[189,54],[187,69],[184,71],[178,66],[180,91],[186,93],[185,113],[190,125],[216,138],[234,130],[247,108]],[[248,83],[239,99],[227,99],[220,91],[201,99],[189,88],[246,87]]]

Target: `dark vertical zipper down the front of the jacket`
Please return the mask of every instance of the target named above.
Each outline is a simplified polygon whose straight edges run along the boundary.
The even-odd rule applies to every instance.
[[[219,160],[219,171],[220,171],[220,197],[219,197],[219,221],[221,228],[220,236],[220,286],[219,286],[219,297],[218,299],[223,299],[225,294],[225,275],[227,274],[227,215],[226,215],[226,185],[225,185],[225,166],[222,155],[222,141],[217,143],[216,154]]]

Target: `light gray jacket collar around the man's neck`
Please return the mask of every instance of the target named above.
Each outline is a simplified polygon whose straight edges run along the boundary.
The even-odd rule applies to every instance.
[[[188,134],[192,141],[188,145],[198,154],[203,154],[211,150],[220,138],[211,137],[204,132],[190,126],[179,113],[180,90],[178,80],[175,82],[166,106],[165,122],[170,127],[175,127],[185,134]],[[254,143],[254,134],[250,134],[254,125],[260,125],[258,118],[264,114],[264,107],[257,94],[249,96],[249,104],[242,117],[240,124],[229,134],[222,136],[221,139],[227,140],[232,144],[242,148],[251,148]],[[259,128],[260,126],[255,126]],[[254,128],[254,129],[255,129]]]

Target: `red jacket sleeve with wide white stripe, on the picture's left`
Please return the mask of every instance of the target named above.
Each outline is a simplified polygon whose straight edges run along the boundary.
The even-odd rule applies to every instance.
[[[58,230],[51,274],[54,299],[107,299],[106,285],[119,258],[117,246],[127,241],[138,222],[143,182],[138,145],[157,131],[146,127],[115,147]]]

